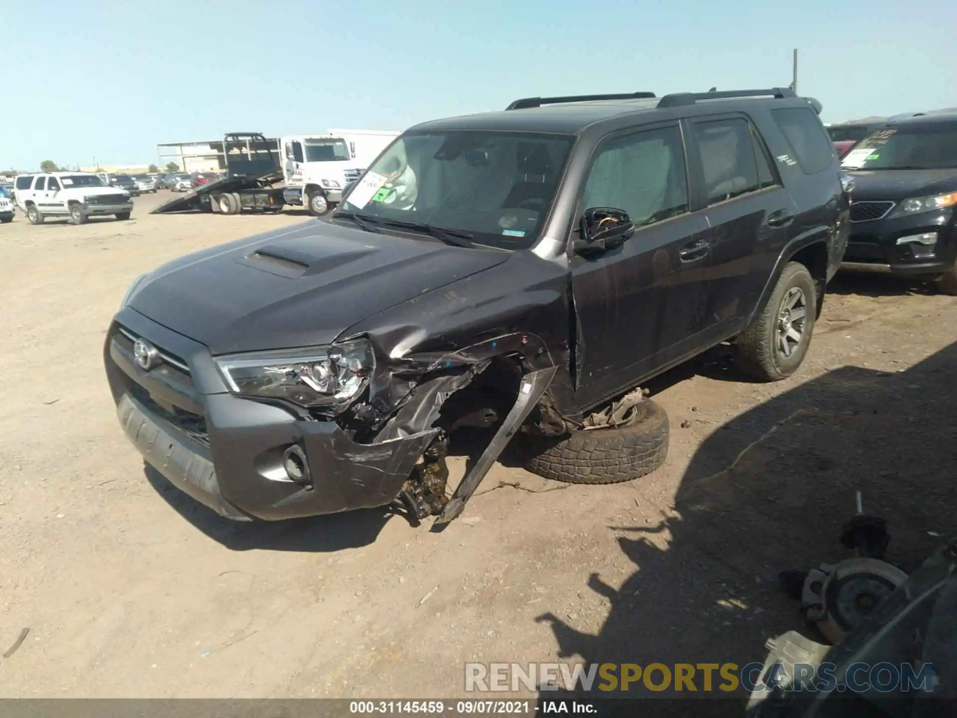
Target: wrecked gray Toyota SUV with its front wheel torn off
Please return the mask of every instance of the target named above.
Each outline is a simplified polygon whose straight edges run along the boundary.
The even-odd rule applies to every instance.
[[[104,361],[145,460],[237,520],[395,505],[454,519],[517,434],[530,470],[665,458],[643,382],[731,341],[801,364],[849,180],[788,89],[513,102],[412,127],[310,220],[129,288]],[[494,429],[450,498],[462,426]]]

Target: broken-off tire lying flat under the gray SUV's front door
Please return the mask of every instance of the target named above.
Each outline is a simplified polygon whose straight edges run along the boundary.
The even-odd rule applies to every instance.
[[[635,407],[637,423],[619,429],[591,429],[566,437],[527,435],[533,474],[568,483],[630,482],[655,471],[668,456],[668,415],[651,399]]]

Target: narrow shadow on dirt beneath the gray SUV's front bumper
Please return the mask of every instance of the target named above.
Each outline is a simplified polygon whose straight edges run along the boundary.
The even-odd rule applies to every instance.
[[[149,464],[146,481],[180,516],[227,549],[328,553],[368,546],[395,516],[387,507],[288,521],[236,522],[225,519],[167,481]]]

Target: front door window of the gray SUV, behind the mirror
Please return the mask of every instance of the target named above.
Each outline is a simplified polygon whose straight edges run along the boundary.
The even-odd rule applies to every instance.
[[[686,213],[688,181],[678,126],[636,132],[602,146],[583,201],[586,209],[624,210],[635,227]]]

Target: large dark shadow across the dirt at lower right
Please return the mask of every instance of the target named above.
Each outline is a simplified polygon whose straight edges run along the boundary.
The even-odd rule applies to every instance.
[[[802,630],[799,605],[777,573],[835,563],[852,554],[840,528],[864,510],[887,519],[887,560],[913,571],[957,520],[957,344],[910,370],[845,367],[795,387],[729,421],[705,439],[679,485],[674,511],[657,526],[607,527],[636,571],[620,585],[592,574],[588,588],[611,604],[600,631],[583,633],[545,614],[560,657],[587,663],[764,662],[765,641]],[[615,581],[617,584],[617,581]],[[573,659],[579,660],[579,659]],[[743,715],[746,696],[713,691],[653,693],[640,681],[628,693],[649,698],[643,714]],[[657,673],[654,683],[660,684]],[[674,685],[674,684],[671,684]],[[597,686],[597,683],[596,683]],[[541,700],[572,697],[544,690]],[[728,699],[728,696],[733,696]],[[649,709],[655,710],[649,713]],[[632,709],[634,712],[634,709]],[[627,712],[627,711],[626,711]],[[731,714],[729,713],[729,714]]]

